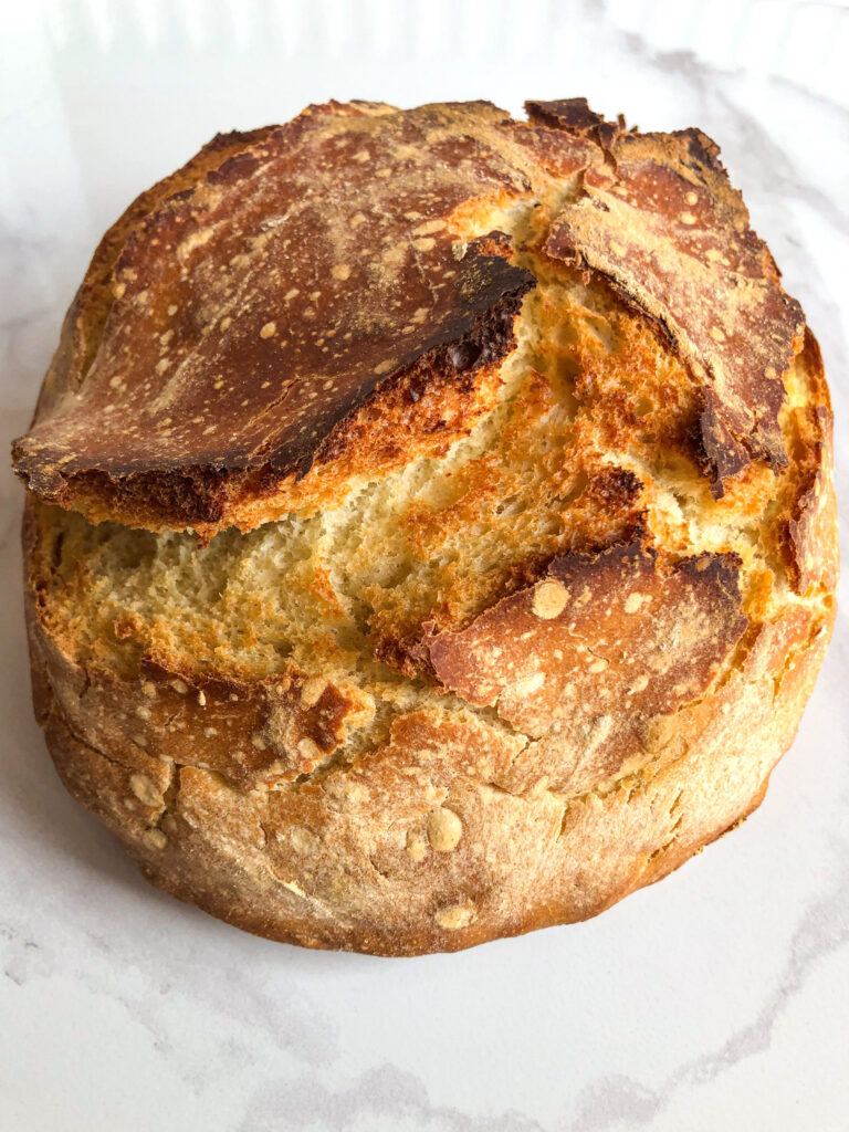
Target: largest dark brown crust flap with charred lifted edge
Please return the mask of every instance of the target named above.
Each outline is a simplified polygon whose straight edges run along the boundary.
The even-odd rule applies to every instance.
[[[126,239],[82,383],[15,445],[31,489],[216,524],[303,475],[409,367],[426,383],[500,360],[533,278],[503,241],[458,255],[447,218],[528,182],[463,119],[315,108],[160,201]]]

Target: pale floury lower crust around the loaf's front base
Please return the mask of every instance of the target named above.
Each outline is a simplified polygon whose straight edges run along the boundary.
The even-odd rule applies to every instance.
[[[521,740],[427,713],[286,791],[243,794],[126,747],[106,757],[55,705],[48,744],[70,792],[173,895],[305,946],[454,951],[597,915],[745,817],[792,740],[831,624],[796,610],[762,626],[740,669],[653,737],[640,772],[583,792],[518,783]],[[446,811],[456,842],[452,829],[440,840]]]

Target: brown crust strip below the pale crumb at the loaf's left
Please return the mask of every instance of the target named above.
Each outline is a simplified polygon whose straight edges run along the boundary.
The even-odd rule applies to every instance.
[[[75,642],[50,625],[41,582],[49,571],[32,503],[24,523],[36,714],[61,713],[77,735],[142,771],[198,765],[251,790],[309,773],[368,722],[374,704],[351,684],[289,664],[265,679],[191,671],[148,653],[131,678],[83,664]]]

